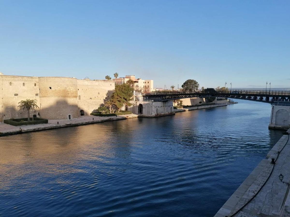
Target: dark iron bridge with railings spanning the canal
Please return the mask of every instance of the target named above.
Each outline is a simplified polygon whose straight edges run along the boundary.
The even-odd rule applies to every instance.
[[[214,90],[214,91],[156,91],[142,93],[144,100],[154,100],[155,102],[166,102],[193,97],[223,97],[242,100],[252,100],[266,103],[290,102],[290,91],[266,91],[266,90]]]

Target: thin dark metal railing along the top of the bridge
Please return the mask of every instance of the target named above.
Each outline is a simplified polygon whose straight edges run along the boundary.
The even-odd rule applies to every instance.
[[[181,95],[181,94],[226,94],[226,95],[290,95],[290,91],[276,90],[214,90],[214,91],[155,91],[151,93],[142,93],[148,95]]]

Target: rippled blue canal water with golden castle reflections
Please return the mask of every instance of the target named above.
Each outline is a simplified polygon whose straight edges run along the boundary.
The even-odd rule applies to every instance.
[[[0,138],[0,216],[213,216],[280,139],[238,104]]]

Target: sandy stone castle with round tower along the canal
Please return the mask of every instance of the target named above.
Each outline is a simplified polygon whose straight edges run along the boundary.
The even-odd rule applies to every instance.
[[[30,112],[31,117],[72,119],[89,115],[104,103],[114,89],[114,81],[9,76],[0,73],[0,122],[26,117],[27,111],[17,108],[18,102],[26,99],[37,100],[39,106]]]

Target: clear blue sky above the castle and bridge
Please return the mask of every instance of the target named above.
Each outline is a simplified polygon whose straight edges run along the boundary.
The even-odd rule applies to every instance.
[[[0,71],[290,87],[290,1],[0,0]]]

